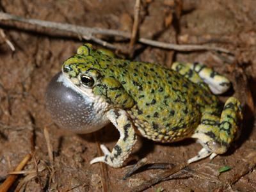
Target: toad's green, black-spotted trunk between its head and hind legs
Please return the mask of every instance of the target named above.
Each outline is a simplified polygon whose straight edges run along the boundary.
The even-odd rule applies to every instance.
[[[129,112],[143,136],[170,142],[193,134],[204,108],[216,108],[216,96],[178,72],[160,65],[113,60],[116,77],[136,104]]]

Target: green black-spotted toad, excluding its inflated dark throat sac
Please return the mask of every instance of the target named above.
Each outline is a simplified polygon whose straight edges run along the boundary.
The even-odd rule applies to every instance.
[[[85,44],[63,63],[63,74],[76,92],[92,100],[97,118],[109,120],[120,132],[113,150],[101,145],[104,156],[91,164],[123,166],[136,131],[163,143],[197,139],[203,148],[188,163],[225,153],[238,135],[241,104],[230,97],[221,105],[212,93],[227,91],[230,81],[205,65],[173,63],[168,69],[121,60]]]

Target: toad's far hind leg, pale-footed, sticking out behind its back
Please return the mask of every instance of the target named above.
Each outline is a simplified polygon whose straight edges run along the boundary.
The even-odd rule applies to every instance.
[[[175,62],[172,69],[193,83],[211,90],[214,94],[225,93],[230,87],[230,81],[218,72],[201,63],[179,63]],[[207,85],[206,85],[207,84]]]

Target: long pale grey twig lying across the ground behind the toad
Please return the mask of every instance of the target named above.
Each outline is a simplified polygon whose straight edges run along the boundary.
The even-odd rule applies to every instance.
[[[15,20],[19,22],[25,22],[37,26],[42,26],[45,28],[58,29],[61,31],[69,31],[76,35],[88,36],[88,35],[108,35],[108,36],[120,36],[126,39],[131,37],[130,33],[125,31],[118,31],[113,29],[102,29],[102,28],[87,28],[83,26],[76,26],[72,24],[61,24],[58,22],[50,22],[45,20],[38,19],[25,19],[23,17],[19,17],[17,15],[11,15],[8,13],[0,12],[0,20]],[[219,51],[225,52],[227,54],[233,54],[231,51],[227,49],[223,49],[221,47],[214,47],[209,45],[177,45],[177,44],[168,44],[164,42],[157,42],[155,40],[149,40],[147,38],[139,38],[138,42],[141,44],[151,45],[153,47],[159,47],[164,49],[172,49],[176,51]]]

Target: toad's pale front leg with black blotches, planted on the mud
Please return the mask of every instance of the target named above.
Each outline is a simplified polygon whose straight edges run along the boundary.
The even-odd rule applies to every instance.
[[[109,152],[105,145],[100,145],[104,156],[92,159],[90,164],[104,162],[115,168],[123,166],[125,159],[129,157],[132,148],[136,143],[137,137],[126,111],[122,109],[111,109],[108,111],[108,118],[120,132],[120,138],[117,141],[112,152]]]

